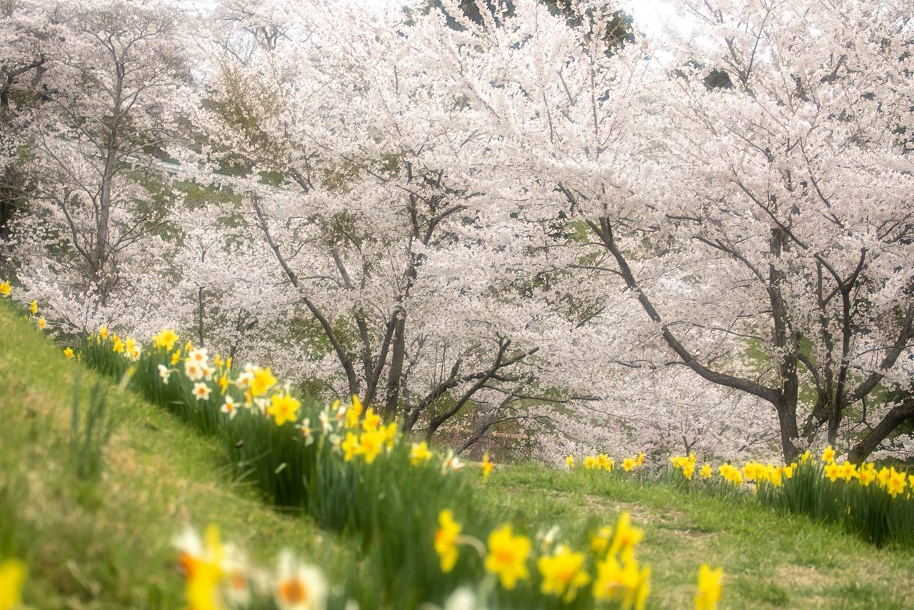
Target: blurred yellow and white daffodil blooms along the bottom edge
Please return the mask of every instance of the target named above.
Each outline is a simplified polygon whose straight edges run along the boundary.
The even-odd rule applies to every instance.
[[[640,566],[634,556],[643,531],[630,525],[626,513],[614,530],[604,527],[595,532],[587,551],[573,551],[543,537],[539,540],[543,552],[537,558],[533,557],[533,541],[515,533],[510,524],[489,533],[485,544],[463,533],[450,510],[441,511],[439,526],[432,543],[442,572],[453,569],[464,548],[484,560],[485,571],[482,583],[464,585],[449,594],[443,602],[446,609],[492,607],[494,587],[514,589],[517,583],[531,577],[532,566],[536,566],[540,577],[539,592],[565,604],[571,604],[579,595],[592,595],[592,599],[615,607],[643,608],[650,591],[650,568]],[[175,543],[191,609],[265,607],[272,603],[281,610],[316,610],[326,607],[332,597],[320,568],[296,560],[289,551],[282,552],[274,569],[262,570],[237,548],[223,544],[213,526],[207,528],[203,538],[188,529]],[[721,569],[701,566],[694,600],[697,610],[717,607],[722,580]],[[358,607],[352,600],[340,605],[347,609]]]

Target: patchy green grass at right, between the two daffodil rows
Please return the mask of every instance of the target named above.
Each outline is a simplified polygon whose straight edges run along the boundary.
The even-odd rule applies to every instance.
[[[652,565],[649,607],[688,607],[701,562],[724,568],[721,607],[911,607],[914,553],[877,548],[840,525],[784,515],[754,498],[526,465],[496,472],[483,499],[517,519],[546,518],[572,528],[612,523],[622,510],[631,512],[645,530],[639,557]]]

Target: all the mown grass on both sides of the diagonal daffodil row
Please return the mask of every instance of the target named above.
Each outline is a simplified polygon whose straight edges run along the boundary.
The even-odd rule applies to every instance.
[[[11,545],[27,554],[27,601],[180,607],[170,539],[187,520],[218,523],[225,538],[263,562],[289,546],[323,564],[332,580],[349,565],[334,536],[232,485],[212,439],[113,388],[109,404],[122,423],[107,475],[95,488],[75,482],[67,469],[73,374],[80,370],[84,388],[99,378],[63,359],[12,311],[0,305],[0,555]],[[629,510],[646,530],[640,556],[654,568],[651,607],[688,607],[703,561],[724,566],[723,607],[911,606],[904,596],[914,590],[911,553],[878,550],[751,501],[537,466],[497,470],[483,497],[506,517],[537,525],[612,522]],[[11,531],[13,542],[5,539]]]

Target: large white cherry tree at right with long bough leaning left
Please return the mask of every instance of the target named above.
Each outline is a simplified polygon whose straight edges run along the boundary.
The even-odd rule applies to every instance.
[[[698,377],[769,403],[786,458],[822,426],[834,442],[868,425],[880,384],[909,387],[906,3],[683,3],[696,28],[666,62],[516,6],[428,37],[432,60],[508,179],[547,191],[542,218],[586,226],[579,277],[624,288]]]

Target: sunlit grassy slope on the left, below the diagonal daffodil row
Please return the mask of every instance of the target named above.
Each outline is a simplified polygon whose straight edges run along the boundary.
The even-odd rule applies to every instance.
[[[27,558],[27,603],[181,607],[171,540],[187,522],[217,523],[225,540],[259,562],[291,547],[319,558],[331,574],[343,569],[347,546],[233,485],[213,439],[64,359],[19,317],[0,303],[0,557]],[[109,408],[120,421],[96,486],[68,468],[77,371],[84,396],[96,380],[109,388]]]

